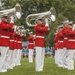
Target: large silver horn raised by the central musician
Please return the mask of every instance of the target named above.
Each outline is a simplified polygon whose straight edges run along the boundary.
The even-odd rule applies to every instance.
[[[37,14],[30,14],[26,17],[26,23],[29,27],[34,27],[35,20],[38,18],[45,19],[45,22],[48,24],[48,22],[55,21],[56,20],[56,10],[52,6],[49,11],[43,12],[43,13],[37,13]],[[34,23],[33,23],[34,22]]]

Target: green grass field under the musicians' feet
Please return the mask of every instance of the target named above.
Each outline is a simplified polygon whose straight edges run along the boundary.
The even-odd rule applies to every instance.
[[[75,70],[69,71],[58,68],[54,63],[54,58],[45,58],[45,66],[42,72],[35,71],[35,60],[34,63],[29,63],[27,58],[22,58],[21,64],[21,66],[14,67],[13,70],[0,73],[0,75],[75,75]]]

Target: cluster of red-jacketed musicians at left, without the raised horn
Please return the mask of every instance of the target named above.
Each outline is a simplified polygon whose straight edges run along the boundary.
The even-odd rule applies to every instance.
[[[4,15],[0,22],[0,72],[6,72],[7,69],[21,65],[21,49],[22,38],[25,37],[19,32],[15,31],[13,17]],[[17,28],[17,27],[16,27]]]

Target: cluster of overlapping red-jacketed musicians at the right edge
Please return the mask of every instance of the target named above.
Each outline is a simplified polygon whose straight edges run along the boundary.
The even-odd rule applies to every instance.
[[[75,27],[72,21],[64,21],[55,33],[55,64],[74,70]]]

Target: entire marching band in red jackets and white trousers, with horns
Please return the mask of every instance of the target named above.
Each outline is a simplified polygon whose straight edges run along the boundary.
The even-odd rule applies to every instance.
[[[2,11],[3,14],[0,13],[0,72],[7,72],[8,69],[13,69],[13,67],[21,65],[22,39],[25,38],[25,28],[14,25],[14,13],[19,19],[21,17],[20,12],[17,11],[18,8],[21,9],[19,5],[16,5],[16,8],[7,11],[4,10]],[[56,17],[51,11],[31,14],[26,18],[29,26],[35,26],[35,35],[30,32],[28,37],[28,59],[30,63],[33,62],[33,50],[35,49],[36,71],[43,71],[45,35],[48,35],[50,32],[49,22],[54,22],[55,19]],[[30,24],[32,20],[35,20],[36,25]],[[63,25],[58,26],[54,36],[55,64],[58,67],[74,70],[75,26],[73,22],[64,21]]]

